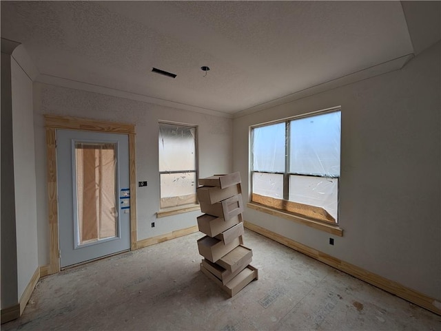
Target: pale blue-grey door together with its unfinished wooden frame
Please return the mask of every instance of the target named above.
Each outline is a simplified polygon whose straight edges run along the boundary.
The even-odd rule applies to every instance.
[[[134,125],[44,117],[50,264],[43,275],[136,249]]]

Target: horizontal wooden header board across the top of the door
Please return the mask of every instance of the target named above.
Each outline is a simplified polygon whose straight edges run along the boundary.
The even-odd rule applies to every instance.
[[[68,116],[44,115],[45,127],[52,129],[107,132],[110,134],[135,134],[135,126]]]

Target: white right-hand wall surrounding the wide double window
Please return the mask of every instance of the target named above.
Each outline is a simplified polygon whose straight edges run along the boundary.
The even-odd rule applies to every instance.
[[[441,299],[440,42],[399,71],[234,119],[247,195],[249,125],[341,105],[343,237],[245,210],[245,220]]]

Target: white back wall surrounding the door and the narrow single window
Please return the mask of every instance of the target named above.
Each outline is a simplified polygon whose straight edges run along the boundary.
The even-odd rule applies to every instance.
[[[232,120],[78,89],[34,83],[39,264],[49,263],[43,114],[126,122],[136,125],[138,240],[196,225],[198,212],[156,218],[159,206],[158,120],[198,125],[199,176],[232,171]],[[155,227],[151,223],[155,222]],[[196,247],[196,246],[195,246]]]

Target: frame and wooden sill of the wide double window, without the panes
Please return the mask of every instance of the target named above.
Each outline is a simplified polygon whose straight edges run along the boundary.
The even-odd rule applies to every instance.
[[[274,120],[271,122],[264,122],[260,123],[258,125],[252,125],[249,127],[249,188],[250,188],[250,194],[249,194],[249,203],[247,206],[251,207],[252,209],[256,209],[258,211],[263,211],[265,213],[269,213],[271,215],[278,215],[280,217],[287,218],[289,220],[294,220],[296,222],[300,222],[303,224],[307,224],[309,226],[313,226],[316,228],[320,228],[322,230],[325,230],[329,233],[334,233],[336,235],[342,235],[342,230],[338,227],[338,224],[340,222],[340,213],[339,213],[339,200],[340,200],[340,177],[341,172],[339,175],[326,175],[326,174],[305,174],[305,173],[291,173],[290,172],[290,144],[291,144],[291,121],[293,120],[299,120],[301,118],[309,118],[313,116],[320,116],[324,114],[331,114],[334,112],[340,112],[340,116],[342,114],[342,109],[340,106],[338,107],[332,107],[329,109],[323,109],[319,111],[313,111],[311,113],[302,114],[299,116],[291,116],[289,118],[282,118],[280,120]],[[268,125],[276,125],[278,123],[285,123],[285,169],[283,172],[280,171],[256,171],[254,170],[254,156],[253,156],[253,144],[254,144],[254,129],[258,127],[265,127]],[[340,130],[341,130],[341,120],[340,120]],[[340,131],[340,164],[341,164],[341,131]],[[311,217],[310,215],[305,214],[299,214],[294,213],[286,209],[279,209],[275,206],[269,206],[267,204],[262,204],[261,202],[256,202],[253,200],[254,193],[253,193],[253,185],[254,185],[254,174],[255,173],[274,173],[278,175],[283,175],[283,201],[289,202],[289,178],[291,175],[301,175],[301,176],[307,176],[307,177],[316,177],[316,178],[332,178],[337,180],[337,217],[334,222],[329,220],[322,220],[320,218]],[[270,197],[269,199],[278,200],[276,198]],[[305,205],[309,206],[309,205]],[[311,208],[314,208],[314,206],[311,206]],[[321,208],[321,207],[320,207]],[[325,209],[323,209],[325,211]],[[334,217],[333,217],[334,218]]]

